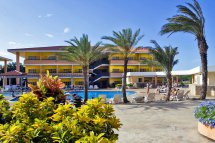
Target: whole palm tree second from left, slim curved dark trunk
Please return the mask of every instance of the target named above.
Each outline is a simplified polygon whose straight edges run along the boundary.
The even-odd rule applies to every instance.
[[[109,50],[117,52],[123,55],[124,60],[124,71],[123,71],[123,81],[122,81],[122,94],[124,103],[129,102],[126,97],[126,77],[127,77],[127,65],[128,57],[134,53],[135,48],[138,42],[143,38],[143,35],[140,35],[140,29],[134,33],[130,28],[122,29],[122,31],[115,32],[113,31],[113,36],[103,36],[102,39],[109,40],[112,44],[105,44],[105,47],[108,47]]]

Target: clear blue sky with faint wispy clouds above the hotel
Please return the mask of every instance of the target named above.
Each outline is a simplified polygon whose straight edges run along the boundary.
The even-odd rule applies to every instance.
[[[176,6],[191,0],[0,0],[0,55],[15,59],[9,48],[66,45],[65,40],[82,33],[93,43],[113,30],[140,28],[145,35],[139,43],[179,47],[175,67],[190,69],[200,65],[195,37],[179,33],[160,36],[166,18],[176,14]],[[208,63],[215,65],[215,1],[199,0],[206,18],[209,45]]]

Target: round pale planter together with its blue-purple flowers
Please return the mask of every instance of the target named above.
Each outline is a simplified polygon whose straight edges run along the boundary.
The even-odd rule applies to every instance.
[[[215,140],[215,101],[202,102],[194,111],[200,134]]]

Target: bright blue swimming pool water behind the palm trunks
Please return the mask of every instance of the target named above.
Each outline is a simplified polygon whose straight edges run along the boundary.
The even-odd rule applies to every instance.
[[[72,91],[72,92],[70,92],[71,95],[74,93],[81,96],[82,98],[84,98],[84,91]],[[126,95],[132,95],[132,94],[135,94],[136,92],[127,91],[126,93],[127,93]],[[116,94],[122,95],[122,91],[88,91],[88,98],[89,99],[97,98],[101,94],[106,95],[107,98],[113,98],[113,96]],[[69,96],[68,98],[71,99],[71,96]]]

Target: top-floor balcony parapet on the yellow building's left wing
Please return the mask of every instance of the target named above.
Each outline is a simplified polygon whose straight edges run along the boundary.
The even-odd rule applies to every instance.
[[[24,65],[76,65],[66,60],[24,60]]]

